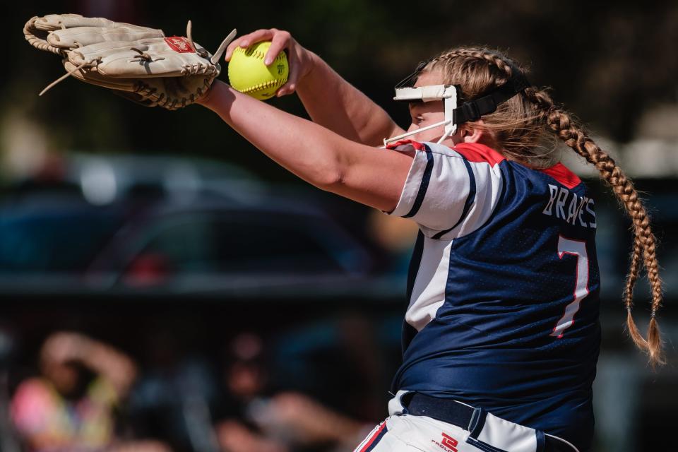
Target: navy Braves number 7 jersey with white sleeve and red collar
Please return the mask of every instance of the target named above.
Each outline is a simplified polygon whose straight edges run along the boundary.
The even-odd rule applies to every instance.
[[[595,202],[561,163],[532,169],[477,143],[404,141],[391,215],[420,227],[401,389],[454,398],[588,450],[600,350]]]

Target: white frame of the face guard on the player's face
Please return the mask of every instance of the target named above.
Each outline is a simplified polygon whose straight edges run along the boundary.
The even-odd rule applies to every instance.
[[[396,97],[393,100],[409,100],[411,102],[434,102],[443,101],[445,110],[445,119],[436,124],[422,127],[421,129],[413,130],[411,132],[403,133],[402,135],[393,136],[391,138],[383,139],[383,147],[389,143],[395,143],[405,137],[412,136],[415,133],[420,133],[429,129],[434,129],[439,126],[445,126],[445,132],[437,141],[442,143],[448,136],[454,135],[457,131],[457,124],[454,122],[453,112],[457,107],[457,89],[454,85],[428,85],[418,86],[417,88],[396,88]]]

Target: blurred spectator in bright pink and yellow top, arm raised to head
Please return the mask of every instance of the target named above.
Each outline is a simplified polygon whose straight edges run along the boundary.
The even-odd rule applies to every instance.
[[[20,383],[11,414],[28,451],[165,452],[155,441],[126,442],[114,430],[114,410],[136,367],[109,345],[71,332],[50,335],[40,350],[41,376]]]

